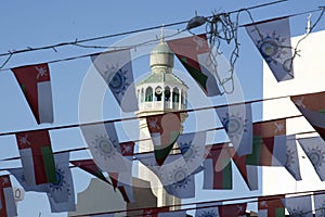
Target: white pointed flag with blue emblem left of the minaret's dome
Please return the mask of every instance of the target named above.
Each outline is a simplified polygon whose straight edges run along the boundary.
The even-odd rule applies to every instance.
[[[108,51],[93,54],[90,58],[121,110],[123,112],[138,111],[130,50]]]

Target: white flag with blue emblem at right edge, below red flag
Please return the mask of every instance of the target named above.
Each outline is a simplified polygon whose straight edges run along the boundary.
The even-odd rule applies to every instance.
[[[325,180],[325,142],[321,137],[298,139],[322,181]]]

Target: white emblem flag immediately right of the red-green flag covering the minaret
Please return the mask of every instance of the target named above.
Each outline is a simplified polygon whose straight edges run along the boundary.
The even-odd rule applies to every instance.
[[[206,132],[180,135],[177,141],[191,173],[197,174],[202,168],[206,152]]]

